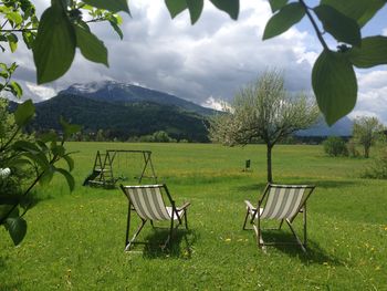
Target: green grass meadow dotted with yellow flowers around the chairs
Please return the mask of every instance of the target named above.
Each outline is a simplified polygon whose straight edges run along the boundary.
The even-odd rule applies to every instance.
[[[316,190],[308,200],[308,252],[287,246],[263,253],[242,222],[243,200],[255,201],[265,186],[264,146],[69,148],[77,150],[76,189],[70,194],[62,177],[36,189],[41,200],[25,216],[29,229],[20,247],[0,230],[0,290],[387,290],[387,181],[358,178],[372,160],[331,158],[321,146],[275,146],[274,181],[315,184]],[[96,150],[106,148],[153,150],[159,181],[177,204],[191,202],[190,230],[181,228],[169,251],[153,243],[124,252],[126,197],[119,189],[81,186]],[[249,158],[252,172],[244,173]],[[132,168],[132,178],[139,163],[123,157],[119,169]],[[286,227],[280,233],[291,239]],[[140,239],[165,236],[147,226]]]

